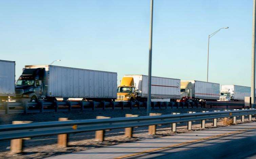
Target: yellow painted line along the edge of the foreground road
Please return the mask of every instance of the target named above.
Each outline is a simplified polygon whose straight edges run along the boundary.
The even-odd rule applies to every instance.
[[[233,132],[230,132],[230,133],[224,133],[224,134],[210,136],[210,137],[205,137],[205,138],[202,138],[202,139],[192,140],[192,141],[188,141],[188,142],[182,142],[182,143],[178,143],[178,144],[173,144],[173,145],[170,145],[170,146],[165,146],[165,147],[160,147],[160,148],[157,148],[157,149],[151,149],[151,150],[147,150],[147,151],[142,151],[142,152],[138,152],[138,153],[134,153],[134,154],[130,154],[130,155],[125,155],[125,156],[117,157],[117,158],[114,158],[114,159],[122,159],[122,158],[126,158],[126,157],[132,157],[132,156],[136,156],[136,155],[140,155],[140,154],[145,154],[145,153],[149,153],[149,152],[153,152],[153,151],[163,150],[163,149],[167,149],[167,148],[170,148],[170,147],[180,146],[180,145],[184,145],[184,144],[188,144],[188,143],[193,143],[193,142],[197,142],[197,141],[202,141],[202,140],[207,140],[207,139],[211,139],[211,138],[215,138],[215,137],[220,137],[220,136],[224,136],[224,135],[236,134],[236,133],[239,133],[239,132],[242,132],[242,131],[248,131],[248,130],[252,130],[252,129],[256,129],[256,127],[250,128],[250,129],[233,131]]]

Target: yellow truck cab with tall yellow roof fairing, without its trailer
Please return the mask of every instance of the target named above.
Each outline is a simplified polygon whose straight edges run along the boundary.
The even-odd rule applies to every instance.
[[[116,101],[133,101],[136,99],[133,77],[123,77],[120,86],[117,88]]]

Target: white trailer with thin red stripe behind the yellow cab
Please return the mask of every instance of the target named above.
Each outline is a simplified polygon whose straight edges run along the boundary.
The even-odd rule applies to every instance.
[[[124,75],[133,77],[136,90],[141,98],[147,98],[147,75]],[[180,99],[180,79],[152,76],[151,98],[160,99]],[[170,101],[170,100],[169,100]]]

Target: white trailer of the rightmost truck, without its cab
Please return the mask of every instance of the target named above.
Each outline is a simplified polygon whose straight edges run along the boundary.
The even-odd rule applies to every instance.
[[[231,100],[244,100],[244,97],[251,96],[251,87],[237,85],[221,85],[221,91],[228,90]]]

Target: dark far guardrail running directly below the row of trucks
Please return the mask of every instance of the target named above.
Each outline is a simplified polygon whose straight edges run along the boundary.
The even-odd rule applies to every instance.
[[[102,108],[103,110],[106,108],[137,108],[146,109],[146,102],[141,101],[55,101],[55,102],[49,102],[49,101],[40,101],[40,102],[0,102],[0,107],[5,109],[5,114],[9,113],[10,109],[14,109],[16,107],[23,107],[24,113],[28,113],[28,108],[33,107],[37,108],[39,112],[44,111],[44,107],[50,107],[55,109],[55,112],[58,112],[59,106],[67,106],[68,111],[72,110],[72,106],[80,106],[81,110],[84,110],[84,108],[91,108],[92,110],[95,110],[96,108]],[[151,103],[152,109],[159,108],[159,109],[167,109],[167,108],[198,108],[203,107],[203,103],[200,102],[187,102],[187,103],[179,103],[179,102],[152,102]]]

